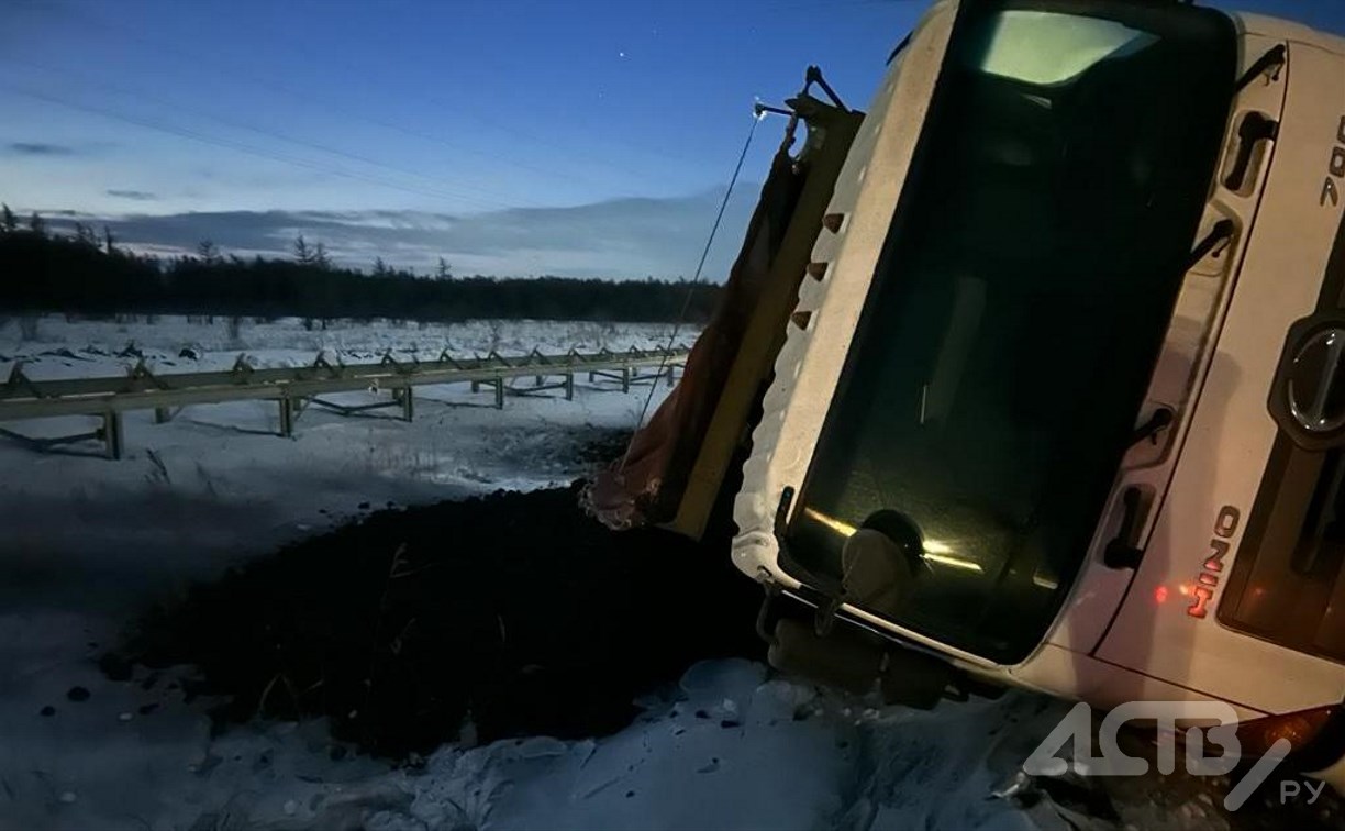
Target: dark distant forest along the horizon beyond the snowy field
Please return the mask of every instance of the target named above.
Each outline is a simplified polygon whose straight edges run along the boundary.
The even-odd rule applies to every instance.
[[[55,234],[38,214],[0,206],[0,312],[165,313],[394,320],[709,319],[720,286],[667,280],[460,277],[440,258],[430,274],[375,260],[370,272],[338,266],[303,235],[288,260],[226,254],[202,241],[194,255],[153,257],[75,223]],[[690,292],[690,299],[689,299]]]

